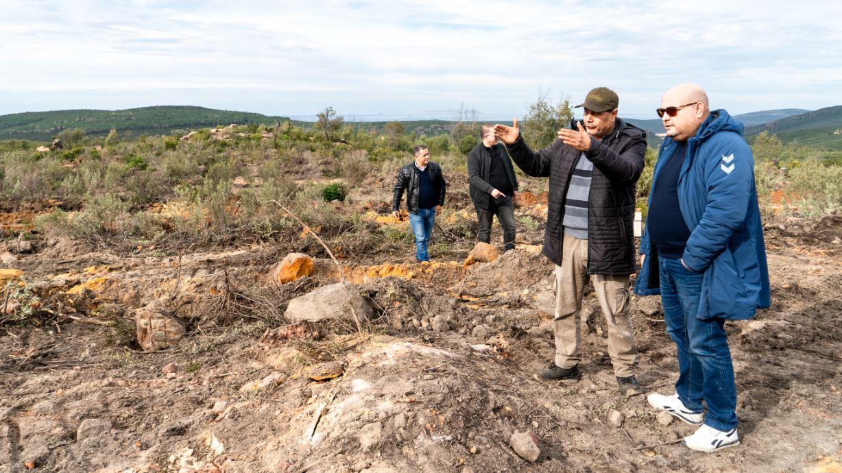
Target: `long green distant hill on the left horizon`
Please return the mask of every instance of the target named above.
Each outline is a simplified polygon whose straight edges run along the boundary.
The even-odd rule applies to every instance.
[[[0,115],[0,140],[50,140],[62,130],[80,128],[88,136],[104,136],[115,128],[168,135],[174,130],[215,125],[272,125],[276,117],[249,112],[205,109],[204,107],[162,105],[125,110],[56,110]],[[281,121],[285,117],[277,117]]]

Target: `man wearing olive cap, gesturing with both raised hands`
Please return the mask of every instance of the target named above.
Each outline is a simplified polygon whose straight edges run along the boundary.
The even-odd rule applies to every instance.
[[[559,130],[558,140],[532,151],[513,126],[494,132],[524,173],[550,178],[543,253],[556,264],[556,355],[541,380],[576,382],[579,311],[588,279],[608,325],[608,353],[623,396],[641,394],[634,375],[637,358],[629,313],[629,275],[635,272],[635,187],[643,170],[646,132],[617,118],[619,98],[594,88],[577,130]]]

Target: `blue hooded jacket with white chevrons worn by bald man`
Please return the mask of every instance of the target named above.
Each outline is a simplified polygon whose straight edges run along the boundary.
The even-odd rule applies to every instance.
[[[658,173],[675,149],[669,137],[658,152]],[[650,204],[653,192],[649,193]],[[690,270],[704,274],[699,312],[749,319],[771,305],[763,226],[754,184],[754,157],[743,140],[743,125],[725,110],[715,110],[687,141],[678,185],[679,207],[690,239],[682,257]],[[658,252],[647,232],[640,242],[647,255],[635,284],[637,295],[658,295]]]

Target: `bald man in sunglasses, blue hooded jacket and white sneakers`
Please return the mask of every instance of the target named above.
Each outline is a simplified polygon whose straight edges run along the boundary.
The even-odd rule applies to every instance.
[[[743,125],[725,110],[711,111],[697,85],[669,89],[657,113],[667,138],[649,193],[635,293],[661,295],[679,379],[674,394],[647,400],[700,426],[684,444],[712,452],[739,444],[724,323],[771,304],[754,157]]]

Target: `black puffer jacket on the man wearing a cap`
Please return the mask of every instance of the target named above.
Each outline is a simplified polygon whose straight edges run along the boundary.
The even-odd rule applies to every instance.
[[[594,163],[588,208],[588,274],[635,272],[635,191],[646,146],[645,131],[617,119],[610,135],[601,141],[592,139],[590,149],[585,151],[585,157]],[[524,173],[550,178],[543,253],[553,263],[561,264],[564,201],[582,151],[556,140],[552,146],[534,152],[522,138],[507,148]]]

